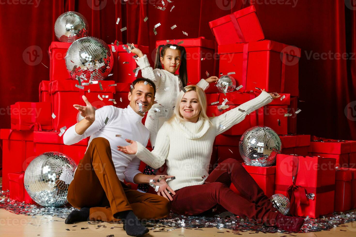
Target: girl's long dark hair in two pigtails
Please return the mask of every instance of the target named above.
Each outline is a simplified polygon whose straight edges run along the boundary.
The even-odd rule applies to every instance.
[[[159,45],[157,47],[156,59],[155,59],[155,68],[163,69],[161,64],[161,57],[164,57],[166,53],[166,49],[169,47],[176,47],[180,51],[180,65],[179,65],[179,79],[182,81],[183,87],[188,83],[188,73],[187,73],[187,53],[185,52],[185,48],[183,46],[179,46],[177,44],[166,44]]]

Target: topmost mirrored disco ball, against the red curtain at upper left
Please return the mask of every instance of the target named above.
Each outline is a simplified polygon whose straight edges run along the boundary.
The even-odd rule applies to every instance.
[[[88,36],[88,21],[78,12],[64,12],[54,23],[54,33],[61,42],[74,42]]]

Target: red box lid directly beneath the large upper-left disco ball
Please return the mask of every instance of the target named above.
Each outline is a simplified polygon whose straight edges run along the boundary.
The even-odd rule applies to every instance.
[[[83,81],[83,83],[89,82],[89,81]],[[101,86],[103,87],[103,90],[100,90],[100,85],[99,82],[101,83]],[[64,91],[84,91],[87,92],[90,89],[90,92],[111,92],[115,93],[115,86],[109,86],[112,84],[115,84],[114,81],[99,81],[98,84],[91,84],[88,86],[84,86],[84,90],[79,89],[75,85],[78,84],[77,80],[59,80],[59,81],[51,81],[49,83],[49,88],[51,93],[56,93],[56,92],[64,92]]]

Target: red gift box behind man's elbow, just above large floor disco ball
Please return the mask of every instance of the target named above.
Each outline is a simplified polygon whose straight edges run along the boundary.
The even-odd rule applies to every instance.
[[[45,152],[57,151],[72,158],[78,164],[87,150],[89,137],[68,146],[64,145],[63,136],[58,136],[58,134],[59,132],[55,131],[35,131],[33,133],[35,155],[38,156]],[[28,160],[26,167],[31,161]]]

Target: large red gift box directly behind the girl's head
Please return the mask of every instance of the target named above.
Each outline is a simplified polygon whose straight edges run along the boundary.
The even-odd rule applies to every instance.
[[[197,84],[200,79],[208,78],[206,72],[210,76],[217,76],[215,75],[217,57],[215,54],[215,42],[205,39],[205,37],[198,37],[192,39],[172,39],[168,44],[178,44],[182,41],[183,43],[180,43],[179,46],[183,46],[187,53],[188,85]],[[156,41],[156,48],[161,44],[165,45],[167,41]],[[178,74],[179,70],[176,73]]]

